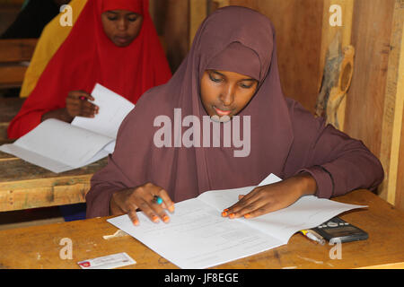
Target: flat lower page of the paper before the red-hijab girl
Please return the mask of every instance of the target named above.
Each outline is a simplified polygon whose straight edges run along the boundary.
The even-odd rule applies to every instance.
[[[12,144],[0,146],[11,153],[53,172],[74,170],[108,155],[103,148],[114,139],[49,118]]]

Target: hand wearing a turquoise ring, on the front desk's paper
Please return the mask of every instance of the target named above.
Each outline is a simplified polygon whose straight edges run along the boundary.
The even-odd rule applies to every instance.
[[[154,201],[154,196],[160,196],[162,204],[157,204]],[[152,183],[118,191],[112,195],[110,200],[110,213],[113,215],[127,213],[135,225],[139,224],[136,215],[138,208],[155,223],[160,222],[160,219],[165,223],[170,222],[170,217],[164,212],[164,209],[168,209],[171,213],[174,212],[174,204],[167,192],[162,187],[154,186]]]

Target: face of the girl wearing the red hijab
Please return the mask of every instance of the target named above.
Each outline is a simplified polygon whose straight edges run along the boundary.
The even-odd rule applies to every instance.
[[[107,37],[118,47],[127,47],[142,28],[143,16],[126,10],[106,11],[101,22]]]

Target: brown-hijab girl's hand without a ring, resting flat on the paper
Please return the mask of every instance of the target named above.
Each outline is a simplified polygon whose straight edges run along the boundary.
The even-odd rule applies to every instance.
[[[224,209],[222,216],[230,219],[253,218],[294,204],[301,196],[314,195],[317,183],[309,173],[302,173],[283,181],[254,188],[248,195],[239,196],[239,202]]]

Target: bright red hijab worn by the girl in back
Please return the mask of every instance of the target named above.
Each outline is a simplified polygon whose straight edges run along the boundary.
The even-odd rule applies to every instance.
[[[171,70],[148,9],[148,0],[88,0],[66,41],[10,123],[9,138],[30,132],[48,111],[65,108],[69,91],[91,92],[95,83],[101,83],[136,103],[145,91],[166,83]],[[101,13],[109,10],[143,16],[139,35],[125,48],[113,44],[102,28]]]

